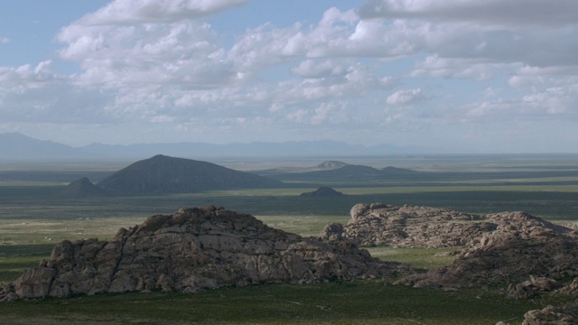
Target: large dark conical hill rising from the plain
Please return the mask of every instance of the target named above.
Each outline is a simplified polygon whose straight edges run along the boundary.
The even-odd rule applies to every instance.
[[[162,154],[133,163],[98,183],[98,187],[108,193],[120,195],[189,193],[281,185],[281,181],[231,170],[215,163]]]

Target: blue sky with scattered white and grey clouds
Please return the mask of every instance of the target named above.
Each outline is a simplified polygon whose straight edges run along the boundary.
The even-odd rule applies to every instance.
[[[5,0],[0,133],[578,153],[575,0]]]

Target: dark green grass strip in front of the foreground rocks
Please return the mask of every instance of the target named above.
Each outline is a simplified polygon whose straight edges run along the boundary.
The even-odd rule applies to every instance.
[[[495,324],[547,303],[499,292],[442,292],[380,282],[268,284],[196,293],[126,293],[0,304],[8,324]]]

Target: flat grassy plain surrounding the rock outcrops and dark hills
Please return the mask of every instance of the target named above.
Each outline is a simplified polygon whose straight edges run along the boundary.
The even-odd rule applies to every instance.
[[[249,172],[299,167],[323,159],[223,159],[212,161]],[[332,158],[331,160],[338,160]],[[339,159],[341,160],[341,159]],[[216,190],[163,196],[70,199],[59,191],[89,176],[99,181],[127,163],[0,163],[0,283],[50,255],[62,239],[114,237],[117,229],[154,214],[214,204],[249,213],[267,225],[317,236],[332,222],[346,223],[357,203],[424,205],[474,213],[525,210],[559,222],[578,221],[578,155],[404,156],[344,158],[375,168],[395,166],[420,173],[412,178],[322,180],[292,175],[284,188]],[[292,169],[294,171],[294,169]],[[330,186],[340,198],[301,198]],[[432,269],[451,263],[440,249],[370,247],[372,255]],[[444,251],[444,250],[442,250]],[[562,304],[569,297],[545,294],[508,300],[498,288],[459,292],[413,289],[382,282],[267,284],[210,292],[128,293],[0,304],[2,323],[521,323],[525,311]]]

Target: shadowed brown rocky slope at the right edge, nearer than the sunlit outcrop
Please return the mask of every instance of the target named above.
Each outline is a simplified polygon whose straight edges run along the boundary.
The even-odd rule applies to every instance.
[[[399,283],[415,287],[469,287],[518,283],[529,276],[578,275],[578,236],[573,228],[524,212],[504,212],[486,218],[497,225],[496,230],[461,250],[451,265],[407,276]]]

